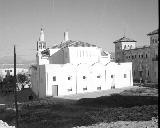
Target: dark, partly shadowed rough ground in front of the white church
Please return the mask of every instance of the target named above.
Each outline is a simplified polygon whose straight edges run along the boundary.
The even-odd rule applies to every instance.
[[[21,93],[19,100],[27,101],[27,94],[30,95]],[[148,87],[49,97],[19,104],[20,128],[157,128],[157,117],[158,89]],[[15,126],[15,109],[1,107],[0,120]]]

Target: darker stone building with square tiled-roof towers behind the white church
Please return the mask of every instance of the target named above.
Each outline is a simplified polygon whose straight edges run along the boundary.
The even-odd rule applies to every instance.
[[[132,62],[135,81],[158,82],[158,31],[147,34],[150,45],[136,46],[136,41],[122,37],[114,41],[116,62]],[[128,44],[126,44],[128,43]]]

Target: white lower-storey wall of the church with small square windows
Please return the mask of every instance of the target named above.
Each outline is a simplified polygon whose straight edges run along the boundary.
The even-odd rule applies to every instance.
[[[124,78],[126,74],[126,78]],[[39,97],[52,96],[52,86],[58,85],[58,96],[99,91],[133,86],[132,63],[110,62],[107,65],[100,63],[89,64],[46,64],[40,65],[33,80],[33,90]],[[113,78],[111,78],[113,75]],[[85,78],[83,78],[85,76]],[[97,78],[97,76],[100,76]],[[32,76],[33,77],[33,76]],[[53,77],[56,80],[53,81]],[[68,79],[70,77],[70,80]],[[36,84],[37,83],[37,84]],[[38,85],[38,86],[37,86]],[[34,87],[35,86],[35,87]],[[86,90],[84,90],[86,88]],[[38,92],[35,90],[37,89]],[[68,90],[72,89],[72,90]]]

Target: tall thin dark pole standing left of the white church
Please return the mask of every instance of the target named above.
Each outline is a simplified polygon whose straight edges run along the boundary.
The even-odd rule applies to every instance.
[[[14,45],[14,98],[15,98],[15,108],[16,108],[16,128],[19,128],[18,124],[18,104],[17,104],[17,78],[16,78],[16,48]]]

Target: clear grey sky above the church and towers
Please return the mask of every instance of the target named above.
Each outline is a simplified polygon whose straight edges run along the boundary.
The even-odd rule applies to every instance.
[[[114,52],[124,35],[149,45],[147,33],[158,28],[158,0],[0,0],[0,58],[35,60],[36,42],[44,27],[47,46],[64,39],[95,44]]]

